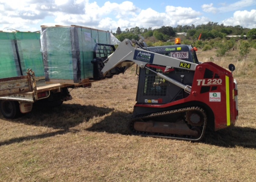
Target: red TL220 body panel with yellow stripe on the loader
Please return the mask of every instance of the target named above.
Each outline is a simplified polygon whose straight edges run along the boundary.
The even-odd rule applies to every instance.
[[[207,75],[205,73],[207,71],[211,74]],[[231,72],[212,62],[206,62],[196,67],[192,89],[186,98],[162,105],[136,104],[135,106],[165,108],[198,101],[206,104],[212,110],[215,130],[219,130],[235,124],[238,110],[234,93],[237,91]]]

